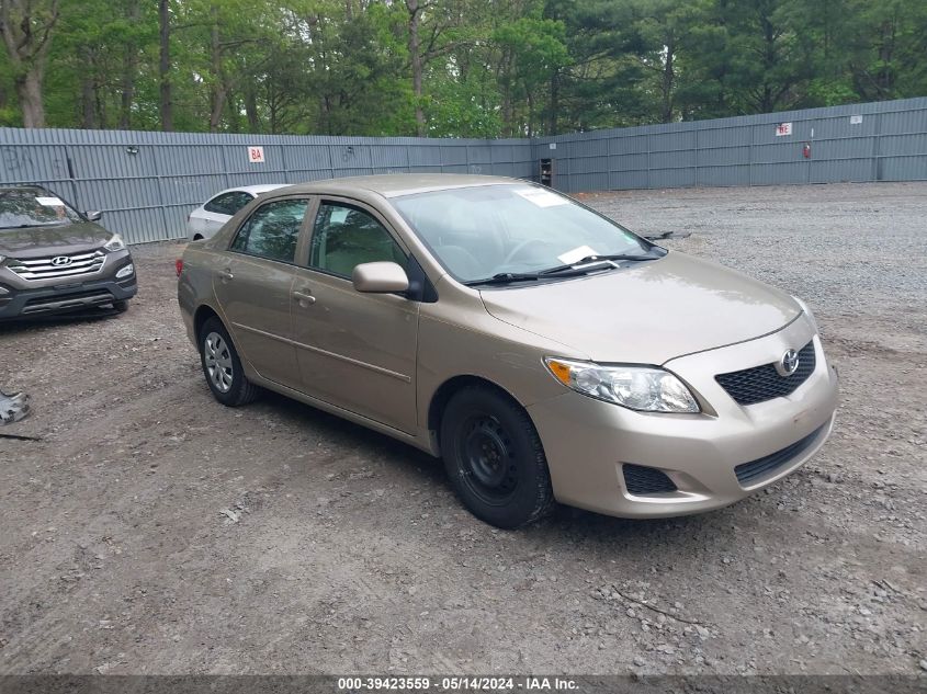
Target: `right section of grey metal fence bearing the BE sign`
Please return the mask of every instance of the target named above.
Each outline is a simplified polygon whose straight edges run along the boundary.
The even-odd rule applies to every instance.
[[[927,98],[544,137],[566,192],[927,180]]]

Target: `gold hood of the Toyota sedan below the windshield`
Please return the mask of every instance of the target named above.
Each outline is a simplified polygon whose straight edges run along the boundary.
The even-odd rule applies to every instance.
[[[499,320],[597,362],[635,364],[758,338],[802,310],[784,292],[675,251],[628,269],[481,295]]]

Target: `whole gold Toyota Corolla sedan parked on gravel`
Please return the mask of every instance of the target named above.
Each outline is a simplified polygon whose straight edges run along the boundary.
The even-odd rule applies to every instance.
[[[800,299],[552,190],[375,175],[273,191],[178,261],[215,398],[268,388],[444,460],[476,516],[658,517],[794,471],[837,377]]]

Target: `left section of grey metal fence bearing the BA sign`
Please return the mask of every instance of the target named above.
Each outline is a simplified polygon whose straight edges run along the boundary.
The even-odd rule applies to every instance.
[[[105,211],[106,227],[131,243],[185,236],[190,211],[235,185],[398,172],[530,178],[533,171],[527,139],[0,128],[0,182],[42,183],[79,209]]]

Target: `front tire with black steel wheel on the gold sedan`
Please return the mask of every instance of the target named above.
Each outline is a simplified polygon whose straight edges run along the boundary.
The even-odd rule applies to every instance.
[[[441,418],[444,469],[476,517],[512,530],[555,507],[541,439],[528,412],[485,386],[457,391]]]

